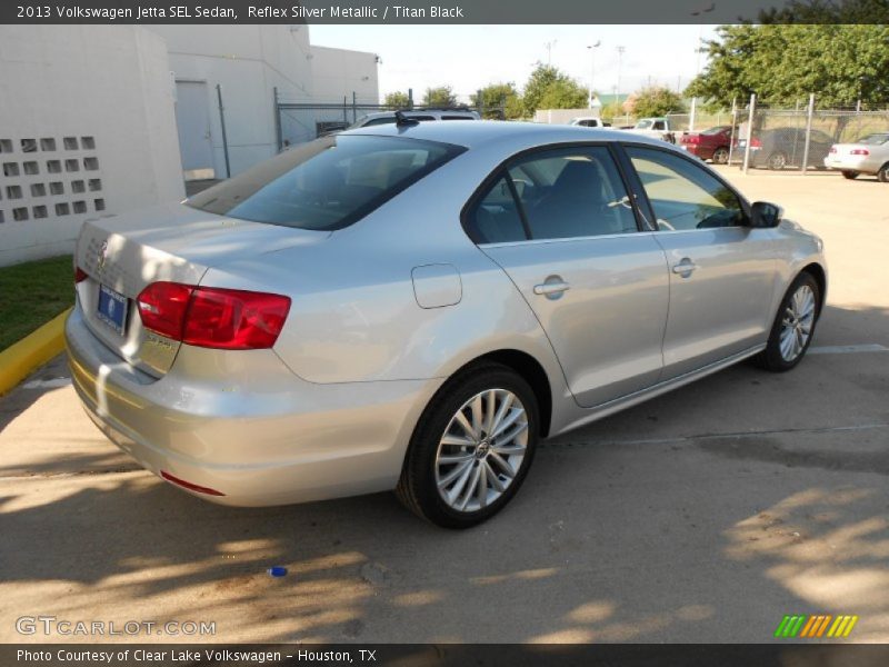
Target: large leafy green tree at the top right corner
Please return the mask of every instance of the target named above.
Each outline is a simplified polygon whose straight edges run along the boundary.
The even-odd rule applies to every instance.
[[[819,107],[889,100],[889,27],[878,24],[720,26],[709,63],[686,89],[709,107],[757,93],[766,103],[816,94]]]

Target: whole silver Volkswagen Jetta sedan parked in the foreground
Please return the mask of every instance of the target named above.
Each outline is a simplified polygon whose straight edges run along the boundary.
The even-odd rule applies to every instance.
[[[805,355],[822,245],[663,141],[506,122],[353,130],[84,223],[87,412],[191,494],[396,489],[467,527],[542,438]]]

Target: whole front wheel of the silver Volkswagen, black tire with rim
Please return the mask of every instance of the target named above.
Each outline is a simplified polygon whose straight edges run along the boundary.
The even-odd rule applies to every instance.
[[[811,273],[803,271],[797,276],[778,307],[766,349],[753,358],[760,368],[772,372],[785,372],[802,360],[821,315],[820,292],[818,281]],[[811,310],[808,306],[803,307],[809,297]],[[793,339],[792,342],[790,339]]]

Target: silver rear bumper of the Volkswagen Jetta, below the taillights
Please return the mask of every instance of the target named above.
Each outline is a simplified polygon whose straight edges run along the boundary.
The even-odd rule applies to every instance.
[[[156,379],[104,347],[79,307],[64,337],[74,389],[97,426],[148,470],[216,490],[189,492],[224,505],[394,488],[413,425],[443,381],[316,385],[272,350],[232,357],[190,346]],[[220,355],[236,359],[224,379],[210,377]]]

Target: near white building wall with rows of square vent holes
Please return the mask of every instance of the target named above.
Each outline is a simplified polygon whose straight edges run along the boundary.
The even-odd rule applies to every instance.
[[[84,219],[184,196],[158,36],[0,26],[0,266],[70,252]]]

